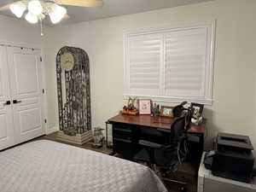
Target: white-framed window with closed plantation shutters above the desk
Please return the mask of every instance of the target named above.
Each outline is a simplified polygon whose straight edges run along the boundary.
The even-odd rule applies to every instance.
[[[214,22],[125,34],[124,96],[212,104]]]

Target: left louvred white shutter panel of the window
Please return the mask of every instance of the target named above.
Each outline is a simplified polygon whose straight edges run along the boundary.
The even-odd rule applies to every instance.
[[[128,68],[131,94],[160,94],[162,35],[148,34],[129,39]]]

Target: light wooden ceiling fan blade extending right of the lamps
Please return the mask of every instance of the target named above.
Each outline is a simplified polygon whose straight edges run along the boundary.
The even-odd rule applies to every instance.
[[[102,0],[59,0],[61,4],[78,7],[102,7]]]

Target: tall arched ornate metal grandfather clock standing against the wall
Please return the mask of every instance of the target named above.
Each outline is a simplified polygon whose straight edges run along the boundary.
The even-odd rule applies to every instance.
[[[92,140],[90,119],[90,62],[84,49],[63,47],[56,56],[57,94],[62,141]]]

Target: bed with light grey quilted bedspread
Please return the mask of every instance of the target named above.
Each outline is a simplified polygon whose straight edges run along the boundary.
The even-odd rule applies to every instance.
[[[147,166],[40,140],[0,152],[1,192],[166,192]]]

